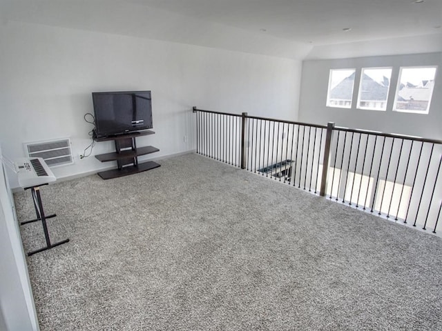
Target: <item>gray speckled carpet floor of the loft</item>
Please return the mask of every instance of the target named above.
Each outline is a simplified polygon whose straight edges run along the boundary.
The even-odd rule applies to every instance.
[[[41,188],[41,330],[442,330],[442,239],[197,154]],[[15,194],[32,219],[29,192]],[[26,252],[41,223],[21,226]]]

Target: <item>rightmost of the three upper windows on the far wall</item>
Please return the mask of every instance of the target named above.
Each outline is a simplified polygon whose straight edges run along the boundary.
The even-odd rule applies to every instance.
[[[399,73],[393,110],[428,114],[437,67],[404,67]]]

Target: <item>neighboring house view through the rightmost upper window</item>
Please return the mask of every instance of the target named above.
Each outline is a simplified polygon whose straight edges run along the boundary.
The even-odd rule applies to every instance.
[[[396,109],[427,110],[433,87],[434,80],[422,81],[419,86],[414,86],[411,83],[401,84],[401,90],[399,90],[396,100]]]

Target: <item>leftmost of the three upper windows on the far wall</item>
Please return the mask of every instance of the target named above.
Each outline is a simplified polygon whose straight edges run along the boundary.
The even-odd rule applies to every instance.
[[[356,69],[332,69],[329,74],[327,106],[351,108]]]

